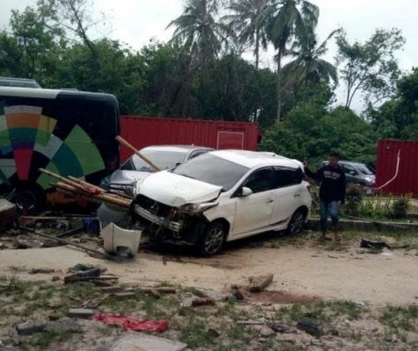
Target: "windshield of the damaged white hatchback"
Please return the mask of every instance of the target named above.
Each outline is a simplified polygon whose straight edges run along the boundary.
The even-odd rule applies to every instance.
[[[243,165],[226,161],[212,154],[204,154],[179,165],[172,172],[214,186],[221,186],[224,191],[228,191],[244,177],[248,170],[249,168]]]

